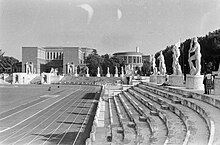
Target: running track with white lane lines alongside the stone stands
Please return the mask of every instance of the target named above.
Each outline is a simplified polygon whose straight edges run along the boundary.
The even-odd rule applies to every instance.
[[[0,145],[83,144],[99,90],[73,86],[2,112]]]

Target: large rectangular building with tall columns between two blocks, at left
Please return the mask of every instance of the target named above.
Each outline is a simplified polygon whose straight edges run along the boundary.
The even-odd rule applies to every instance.
[[[86,47],[22,47],[22,72],[26,72],[26,63],[31,62],[33,73],[57,68],[59,74],[66,74],[68,64],[84,65],[86,56],[94,51]]]

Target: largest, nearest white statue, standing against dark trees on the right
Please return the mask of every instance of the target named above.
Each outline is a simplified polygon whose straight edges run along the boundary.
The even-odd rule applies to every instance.
[[[191,40],[190,49],[188,54],[188,62],[191,75],[200,75],[201,71],[201,53],[200,44],[196,37]]]

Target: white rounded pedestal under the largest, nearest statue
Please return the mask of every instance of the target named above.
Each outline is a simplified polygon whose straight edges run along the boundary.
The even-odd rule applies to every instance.
[[[186,75],[186,88],[203,90],[203,75]]]

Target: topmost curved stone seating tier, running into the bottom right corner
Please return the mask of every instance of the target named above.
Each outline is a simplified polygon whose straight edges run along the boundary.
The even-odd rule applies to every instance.
[[[199,95],[197,93],[192,93],[192,92],[188,92],[188,91],[184,91],[184,90],[180,90],[180,89],[172,88],[172,87],[161,87],[161,86],[157,86],[155,84],[146,83],[145,85],[152,87],[152,88],[157,88],[158,91],[167,93],[169,95],[174,95],[174,96],[177,96],[181,99],[184,99],[185,105],[189,106],[190,104],[192,104],[189,102],[193,102],[193,104],[195,104],[198,107],[196,107],[195,105],[193,106],[193,104],[191,107],[197,109],[196,111],[200,114],[203,112],[200,111],[199,108],[202,108],[204,110],[205,114],[207,115],[207,118],[211,121],[209,124],[209,128],[210,128],[209,141],[210,141],[210,143],[213,142],[213,144],[220,144],[220,139],[218,137],[218,134],[220,134],[220,118],[218,117],[218,116],[220,116],[220,108],[213,106],[213,104],[211,103],[212,101],[206,100],[205,95],[202,95],[202,94]],[[190,98],[188,97],[189,94],[191,94]],[[217,102],[215,102],[215,103],[217,103]],[[204,117],[206,117],[206,116],[204,116]]]

